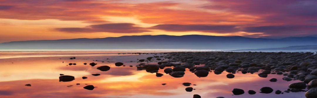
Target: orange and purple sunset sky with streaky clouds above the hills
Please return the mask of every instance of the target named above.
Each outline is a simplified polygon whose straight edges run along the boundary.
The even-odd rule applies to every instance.
[[[0,43],[125,35],[317,34],[316,0],[0,0]]]

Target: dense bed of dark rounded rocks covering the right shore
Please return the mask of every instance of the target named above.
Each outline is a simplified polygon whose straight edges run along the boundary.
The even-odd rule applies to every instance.
[[[303,81],[290,84],[290,89],[284,92],[305,91],[303,89],[308,87],[306,97],[317,97],[317,55],[312,52],[167,52],[164,54],[161,57],[163,60],[158,64],[140,63],[137,69],[157,73],[159,69],[172,67],[165,68],[164,72],[177,78],[184,76],[186,68],[197,77],[207,77],[212,71],[215,74],[229,72],[227,78],[234,78],[236,72],[243,74],[258,72],[258,76],[263,78],[268,77],[269,74],[278,74],[284,75],[282,80],[285,81]],[[149,57],[147,60],[152,58],[155,57]],[[273,78],[270,81],[276,82],[277,79]],[[260,93],[273,92],[271,88],[262,89]],[[255,94],[253,91],[248,92]],[[275,93],[282,92],[276,90]]]

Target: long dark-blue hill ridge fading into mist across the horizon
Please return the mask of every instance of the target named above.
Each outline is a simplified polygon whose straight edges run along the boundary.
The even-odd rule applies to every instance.
[[[283,39],[208,35],[140,35],[97,39],[30,40],[0,44],[0,49],[209,49],[238,50],[317,45],[317,37]]]

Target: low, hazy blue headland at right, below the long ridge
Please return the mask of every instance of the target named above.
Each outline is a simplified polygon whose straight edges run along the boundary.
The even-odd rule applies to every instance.
[[[317,51],[317,45],[288,46],[288,47],[282,47],[282,48],[244,49],[244,50],[233,50],[233,51],[274,51],[274,50],[316,50]]]

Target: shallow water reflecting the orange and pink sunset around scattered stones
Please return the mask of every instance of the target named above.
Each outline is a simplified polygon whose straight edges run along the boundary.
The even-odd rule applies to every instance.
[[[0,97],[1,98],[192,98],[194,94],[202,98],[305,98],[305,92],[276,95],[275,90],[287,90],[288,84],[300,81],[284,81],[282,75],[269,74],[262,78],[255,74],[237,72],[235,78],[226,77],[227,72],[216,75],[210,72],[208,77],[197,77],[188,69],[184,77],[174,78],[159,70],[164,76],[137,70],[137,59],[152,57],[154,54],[118,54],[135,51],[111,52],[0,52]],[[139,51],[140,52],[140,51]],[[154,52],[154,51],[146,51]],[[158,54],[159,55],[159,54]],[[76,59],[69,59],[76,57]],[[107,59],[108,58],[108,59]],[[98,61],[93,61],[98,60]],[[102,63],[101,61],[105,61]],[[108,62],[109,61],[109,62]],[[133,61],[133,62],[130,62]],[[64,63],[62,63],[64,62]],[[97,63],[92,67],[89,63]],[[122,62],[126,66],[115,66],[113,62]],[[76,63],[77,65],[68,65]],[[88,63],[83,65],[83,63]],[[148,62],[156,64],[157,61]],[[111,67],[108,71],[96,68],[102,65]],[[129,67],[133,65],[133,67]],[[169,68],[169,67],[165,67]],[[101,74],[92,76],[91,74]],[[59,82],[59,74],[74,76],[71,82]],[[88,77],[81,79],[81,77]],[[269,82],[277,78],[277,82]],[[186,92],[182,83],[195,85],[196,90]],[[76,85],[80,83],[80,85]],[[166,85],[161,85],[166,83]],[[31,84],[31,87],[24,86]],[[94,90],[83,89],[86,84],[94,85]],[[71,87],[67,87],[73,85]],[[262,87],[271,87],[271,94],[259,93]],[[243,95],[232,95],[232,89],[243,89]],[[249,95],[248,90],[255,90]]]

